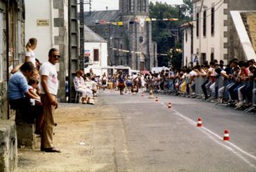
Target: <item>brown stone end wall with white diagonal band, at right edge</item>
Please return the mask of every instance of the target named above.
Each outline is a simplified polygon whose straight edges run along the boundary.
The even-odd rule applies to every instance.
[[[232,59],[234,57],[239,59],[255,59],[256,55],[248,55],[250,57],[246,57],[246,54],[244,52],[242,44],[238,46],[242,40],[239,39],[239,41],[236,42],[237,37],[239,37],[239,32],[235,28],[245,28],[244,35],[247,35],[250,40],[251,45],[255,45],[256,42],[256,35],[255,35],[255,29],[256,29],[256,1],[255,0],[244,0],[244,1],[234,1],[232,0],[224,0],[224,3],[227,4],[228,8],[224,10],[224,14],[227,15],[227,19],[225,19],[224,26],[227,27],[227,30],[224,32],[224,38],[228,39],[227,44],[224,44],[225,48],[228,48],[228,53],[224,55],[225,59]],[[232,12],[239,11],[239,15],[235,17],[235,15],[232,15]],[[243,23],[237,23],[235,22],[237,19],[242,19]],[[234,26],[235,23],[237,23],[237,26]],[[247,33],[247,34],[246,34]],[[242,36],[244,37],[244,36]],[[248,44],[248,43],[246,43]],[[254,46],[254,52],[256,52],[256,47]],[[246,50],[248,51],[248,50]]]

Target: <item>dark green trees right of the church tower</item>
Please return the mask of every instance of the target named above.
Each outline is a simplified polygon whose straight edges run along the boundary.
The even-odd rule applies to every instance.
[[[185,16],[192,9],[192,3],[190,0],[183,0],[187,5],[180,6],[171,6],[167,3],[162,3],[156,1],[155,3],[149,4],[149,15],[151,18],[155,19],[170,19],[178,18],[179,21],[153,21],[152,22],[152,37],[153,41],[157,42],[157,53],[168,54],[168,56],[159,56],[157,57],[158,66],[169,66],[170,61],[174,65],[181,66],[181,57],[182,55],[172,56],[169,53],[171,48],[181,48],[180,40],[181,32],[180,25],[187,21],[191,21],[191,17]],[[186,13],[187,12],[187,13]],[[176,41],[178,40],[178,41]],[[178,59],[180,58],[180,60]]]

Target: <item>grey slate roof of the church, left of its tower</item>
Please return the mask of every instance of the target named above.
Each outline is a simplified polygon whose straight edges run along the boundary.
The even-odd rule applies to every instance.
[[[119,18],[119,10],[92,11],[90,15],[89,12],[85,12],[85,24],[87,26],[99,23],[100,20],[119,21]]]

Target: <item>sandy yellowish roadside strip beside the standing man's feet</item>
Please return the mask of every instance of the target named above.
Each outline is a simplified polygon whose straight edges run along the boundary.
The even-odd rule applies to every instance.
[[[62,153],[41,152],[39,138],[35,150],[19,149],[17,171],[116,171],[121,117],[112,107],[96,104],[60,104],[53,142]]]

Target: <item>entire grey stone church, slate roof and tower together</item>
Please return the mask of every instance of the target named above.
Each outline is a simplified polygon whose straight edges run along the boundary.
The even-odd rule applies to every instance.
[[[148,17],[148,0],[119,0],[119,10],[85,12],[85,24],[108,41],[108,65],[150,70],[157,66],[157,46]]]

